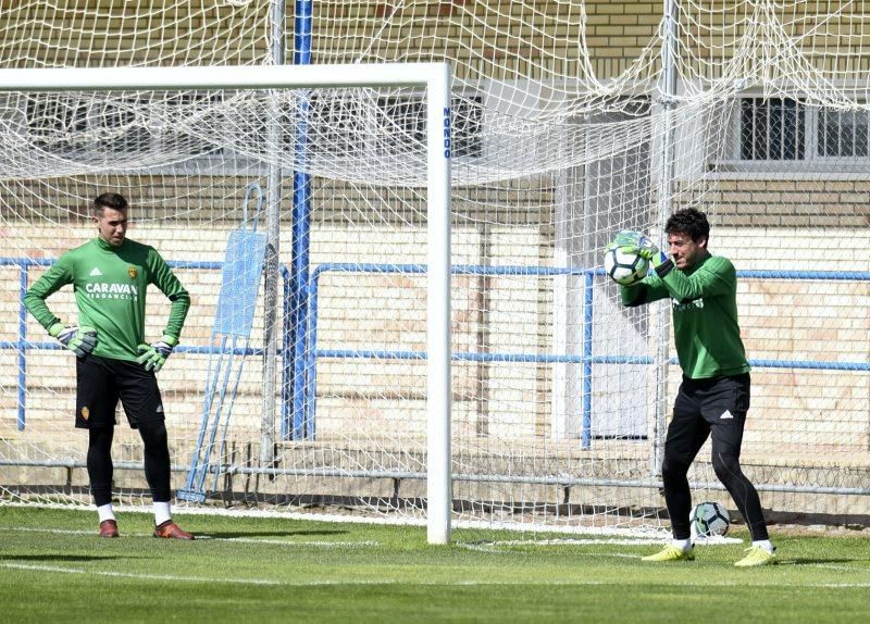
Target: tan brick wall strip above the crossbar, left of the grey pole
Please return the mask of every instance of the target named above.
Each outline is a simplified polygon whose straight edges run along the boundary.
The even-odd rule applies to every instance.
[[[264,63],[269,4],[3,0],[0,66]]]

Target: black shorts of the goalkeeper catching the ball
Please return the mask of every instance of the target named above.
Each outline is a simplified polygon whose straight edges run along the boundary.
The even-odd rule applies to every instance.
[[[739,458],[749,411],[749,373],[711,379],[683,377],[668,426],[664,455],[680,463],[692,463],[712,434],[713,454]]]

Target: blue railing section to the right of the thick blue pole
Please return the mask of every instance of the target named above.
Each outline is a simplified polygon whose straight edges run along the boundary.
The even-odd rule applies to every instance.
[[[319,265],[311,274],[309,282],[309,327],[308,344],[304,350],[304,362],[297,366],[304,370],[306,391],[294,396],[293,423],[294,432],[304,432],[304,437],[314,437],[314,412],[316,400],[316,359],[378,359],[378,360],[425,360],[425,351],[408,350],[356,350],[356,349],[318,349],[318,290],[320,277],[327,272],[338,273],[380,273],[380,274],[424,274],[424,264],[355,264],[325,263]],[[453,361],[473,362],[532,362],[532,363],[574,363],[582,364],[581,382],[582,432],[581,444],[588,448],[592,442],[592,367],[594,364],[652,364],[654,359],[647,355],[593,355],[593,309],[595,276],[605,275],[602,269],[552,269],[543,266],[483,266],[455,265],[453,275],[510,275],[510,276],[583,276],[583,340],[582,354],[537,354],[537,353],[477,353],[453,352]],[[757,279],[817,279],[870,282],[870,272],[863,271],[738,271],[737,277]],[[676,364],[675,358],[670,360]],[[826,371],[870,371],[870,362],[822,362],[803,360],[750,359],[749,364],[758,369],[813,369]],[[285,409],[289,404],[285,403]],[[285,414],[285,420],[287,419]],[[294,438],[298,439],[298,438]]]

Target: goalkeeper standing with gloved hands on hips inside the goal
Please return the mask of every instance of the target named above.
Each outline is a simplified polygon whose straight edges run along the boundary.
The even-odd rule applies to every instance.
[[[154,506],[154,537],[194,539],[170,515],[170,451],[154,373],[178,344],[190,296],[153,247],[126,238],[127,201],[105,192],[94,200],[98,236],[61,255],[24,298],[27,310],[76,355],[75,426],[88,429],[87,466],[101,537],[117,537],[112,511],[112,438],[119,399],[145,445],[145,476]],[[46,298],[75,290],[78,324],[62,323]],[[146,289],[172,301],[163,337],[145,341]]]

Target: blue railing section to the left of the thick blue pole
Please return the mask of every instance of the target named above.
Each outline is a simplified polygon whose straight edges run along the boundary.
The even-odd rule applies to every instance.
[[[17,266],[20,269],[20,278],[18,278],[18,336],[16,340],[0,340],[0,349],[13,349],[17,351],[17,428],[18,430],[24,430],[26,425],[26,394],[27,394],[27,351],[30,349],[39,349],[39,350],[60,350],[63,349],[57,341],[30,341],[27,340],[27,309],[24,307],[24,296],[27,294],[28,288],[28,273],[30,266],[51,266],[55,262],[55,259],[52,258],[0,258],[0,266]],[[169,262],[169,265],[173,269],[191,269],[191,270],[203,270],[203,271],[220,271],[223,269],[223,262],[206,262],[206,261],[172,261]],[[284,279],[284,309],[285,312],[289,305],[289,271],[286,266],[281,266],[281,274],[282,278]],[[197,346],[187,346],[187,345],[179,345],[176,349],[179,353],[196,353],[196,354],[211,354],[216,353],[220,351],[219,348],[215,347],[197,347]],[[222,351],[227,353],[226,350]],[[254,349],[254,348],[236,348],[233,350],[233,354],[236,355],[262,355],[262,349]],[[282,350],[279,357],[283,359],[287,359],[289,351]],[[287,370],[288,367],[284,366],[284,379],[283,379],[283,387],[286,387],[287,382]]]

